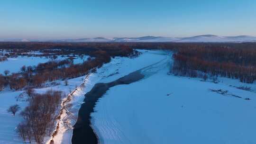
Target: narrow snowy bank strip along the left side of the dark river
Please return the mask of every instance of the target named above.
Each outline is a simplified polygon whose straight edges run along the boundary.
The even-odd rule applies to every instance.
[[[91,73],[88,79],[84,83],[84,87],[79,89],[79,91],[74,93],[74,97],[68,104],[68,111],[71,117],[69,117],[69,126],[73,126],[77,121],[78,111],[83,103],[84,94],[89,92],[96,83],[110,83],[115,81],[131,72],[140,70],[143,67],[156,63],[163,59],[162,51],[150,51],[150,50],[138,50],[142,54],[136,58],[128,57],[115,57],[112,58],[110,63],[104,64],[101,68],[97,69],[96,72]],[[82,83],[81,78],[79,79]],[[69,82],[70,83],[70,82]],[[73,82],[72,82],[73,83]],[[81,83],[77,83],[79,86]],[[73,89],[71,89],[73,90]],[[67,93],[70,93],[67,91]],[[63,120],[66,120],[64,117]],[[64,125],[59,128],[57,135],[54,137],[54,144],[71,144],[73,128]]]

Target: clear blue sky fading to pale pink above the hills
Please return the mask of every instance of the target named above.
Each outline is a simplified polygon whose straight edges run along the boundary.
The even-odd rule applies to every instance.
[[[1,0],[0,38],[256,36],[256,0]]]

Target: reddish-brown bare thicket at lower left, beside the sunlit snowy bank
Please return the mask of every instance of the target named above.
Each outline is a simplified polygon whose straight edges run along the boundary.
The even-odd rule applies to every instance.
[[[31,93],[32,94],[32,93]],[[20,113],[24,121],[17,126],[18,134],[24,142],[33,140],[42,144],[55,126],[56,110],[60,108],[61,92],[49,90],[44,94],[33,93],[28,106]]]

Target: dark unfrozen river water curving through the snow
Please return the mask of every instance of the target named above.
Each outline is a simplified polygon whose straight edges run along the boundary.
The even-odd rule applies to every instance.
[[[91,113],[94,112],[98,99],[111,87],[120,84],[130,84],[143,78],[144,75],[140,71],[136,71],[116,81],[95,84],[91,91],[85,94],[84,103],[79,109],[78,119],[73,129],[72,144],[98,144],[98,137],[91,128]]]

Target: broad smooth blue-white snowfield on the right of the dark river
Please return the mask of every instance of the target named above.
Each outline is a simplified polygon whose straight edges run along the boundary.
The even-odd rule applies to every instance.
[[[92,127],[101,144],[256,144],[256,93],[167,75],[167,61],[142,69],[145,79],[112,87],[99,100]]]

